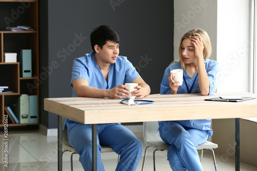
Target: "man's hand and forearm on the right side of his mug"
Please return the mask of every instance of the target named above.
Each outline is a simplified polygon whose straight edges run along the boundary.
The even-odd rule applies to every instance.
[[[132,96],[137,96],[135,99],[142,99],[150,94],[150,86],[141,77],[134,79],[131,83],[138,83],[137,90],[132,91]]]

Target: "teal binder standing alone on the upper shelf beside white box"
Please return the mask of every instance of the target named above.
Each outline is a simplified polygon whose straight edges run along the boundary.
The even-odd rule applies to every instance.
[[[22,49],[20,53],[21,77],[31,77],[31,49]]]

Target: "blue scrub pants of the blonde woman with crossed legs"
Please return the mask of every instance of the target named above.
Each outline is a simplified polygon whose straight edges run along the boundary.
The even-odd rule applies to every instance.
[[[196,147],[203,144],[208,134],[206,130],[183,127],[174,121],[159,125],[161,139],[171,144],[167,158],[173,171],[203,170]]]

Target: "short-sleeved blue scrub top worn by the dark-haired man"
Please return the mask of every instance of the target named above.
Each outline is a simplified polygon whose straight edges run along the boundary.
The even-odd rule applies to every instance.
[[[77,94],[73,88],[72,82],[76,79],[85,79],[88,81],[89,86],[99,89],[112,89],[117,85],[121,85],[124,82],[130,83],[140,75],[136,71],[135,67],[125,56],[118,56],[114,64],[110,64],[108,73],[108,84],[103,77],[103,74],[98,67],[95,58],[95,53],[87,53],[80,58],[74,60],[71,75],[71,87],[72,97],[77,97]],[[74,113],[76,115],[76,113]],[[63,130],[67,122],[75,122],[70,119],[66,119],[63,125]],[[68,124],[68,123],[67,123]]]

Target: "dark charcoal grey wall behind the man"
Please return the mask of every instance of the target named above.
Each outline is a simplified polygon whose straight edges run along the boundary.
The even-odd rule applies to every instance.
[[[90,32],[99,25],[120,35],[120,55],[133,63],[151,93],[159,93],[173,61],[173,23],[170,0],[40,1],[41,124],[57,128],[57,116],[44,111],[43,98],[71,96],[73,60],[91,52]]]

